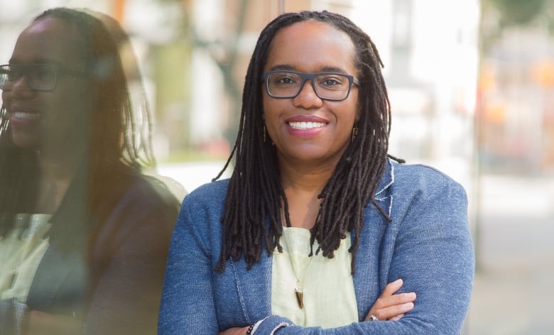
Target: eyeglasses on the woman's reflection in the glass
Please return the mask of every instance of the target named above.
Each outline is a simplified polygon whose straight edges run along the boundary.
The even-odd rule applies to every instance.
[[[11,91],[21,77],[36,91],[51,91],[56,88],[58,77],[62,75],[83,77],[85,72],[63,69],[55,65],[0,65],[0,89]]]

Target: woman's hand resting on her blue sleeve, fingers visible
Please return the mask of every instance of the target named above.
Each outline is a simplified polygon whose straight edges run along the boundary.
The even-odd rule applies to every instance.
[[[379,320],[397,321],[404,316],[405,313],[413,309],[413,301],[415,293],[401,293],[394,295],[394,292],[400,290],[403,285],[403,280],[398,279],[386,285],[385,289],[377,298],[369,313],[367,313],[364,321],[369,321],[369,317],[373,315]]]

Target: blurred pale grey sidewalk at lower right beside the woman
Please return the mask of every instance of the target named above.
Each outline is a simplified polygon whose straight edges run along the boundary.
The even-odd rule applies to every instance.
[[[484,176],[464,335],[554,334],[554,178]]]

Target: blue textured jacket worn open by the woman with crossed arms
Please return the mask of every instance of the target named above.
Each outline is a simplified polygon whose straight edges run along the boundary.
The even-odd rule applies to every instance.
[[[212,182],[183,201],[165,273],[159,334],[217,334],[256,323],[254,334],[458,334],[469,307],[474,251],[465,190],[424,165],[389,161],[374,205],[365,210],[354,273],[358,323],[335,329],[295,326],[271,314],[271,256],[246,270],[229,260],[214,272],[227,181]],[[404,281],[415,307],[398,322],[363,322],[387,285]],[[263,321],[261,321],[263,320]]]

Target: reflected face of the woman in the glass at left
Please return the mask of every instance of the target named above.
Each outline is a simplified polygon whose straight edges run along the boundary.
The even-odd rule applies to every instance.
[[[80,38],[68,23],[43,18],[19,35],[10,65],[54,65],[83,72],[85,62]],[[87,106],[86,78],[60,75],[55,89],[32,89],[23,76],[2,99],[13,136],[20,148],[44,153],[72,153],[83,137],[83,109]]]

